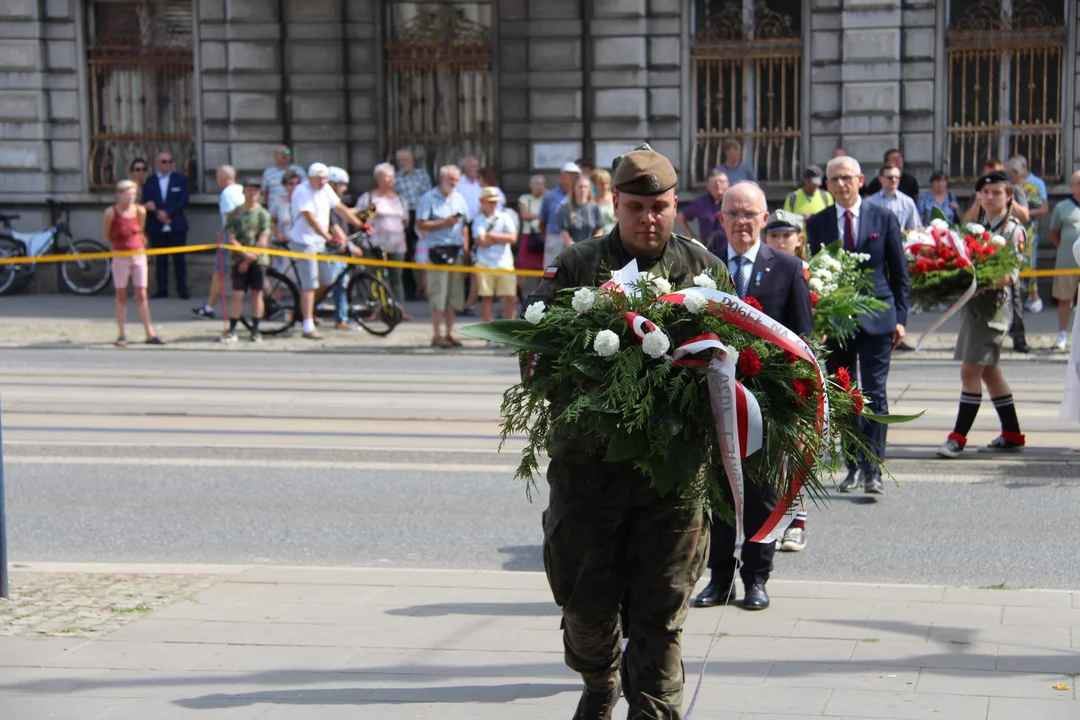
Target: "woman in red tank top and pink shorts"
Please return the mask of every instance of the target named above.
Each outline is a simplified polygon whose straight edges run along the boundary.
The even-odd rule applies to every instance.
[[[117,184],[117,204],[105,210],[105,237],[112,244],[112,249],[141,250],[146,248],[146,235],[143,227],[146,223],[146,208],[136,203],[138,186],[131,180]],[[131,255],[112,258],[112,285],[117,288],[117,326],[120,337],[117,345],[127,345],[124,337],[124,321],[127,320],[127,283],[135,286],[135,308],[139,320],[146,329],[148,345],[163,345],[165,341],[153,334],[150,325],[150,301],[147,299],[147,262],[146,255]]]

